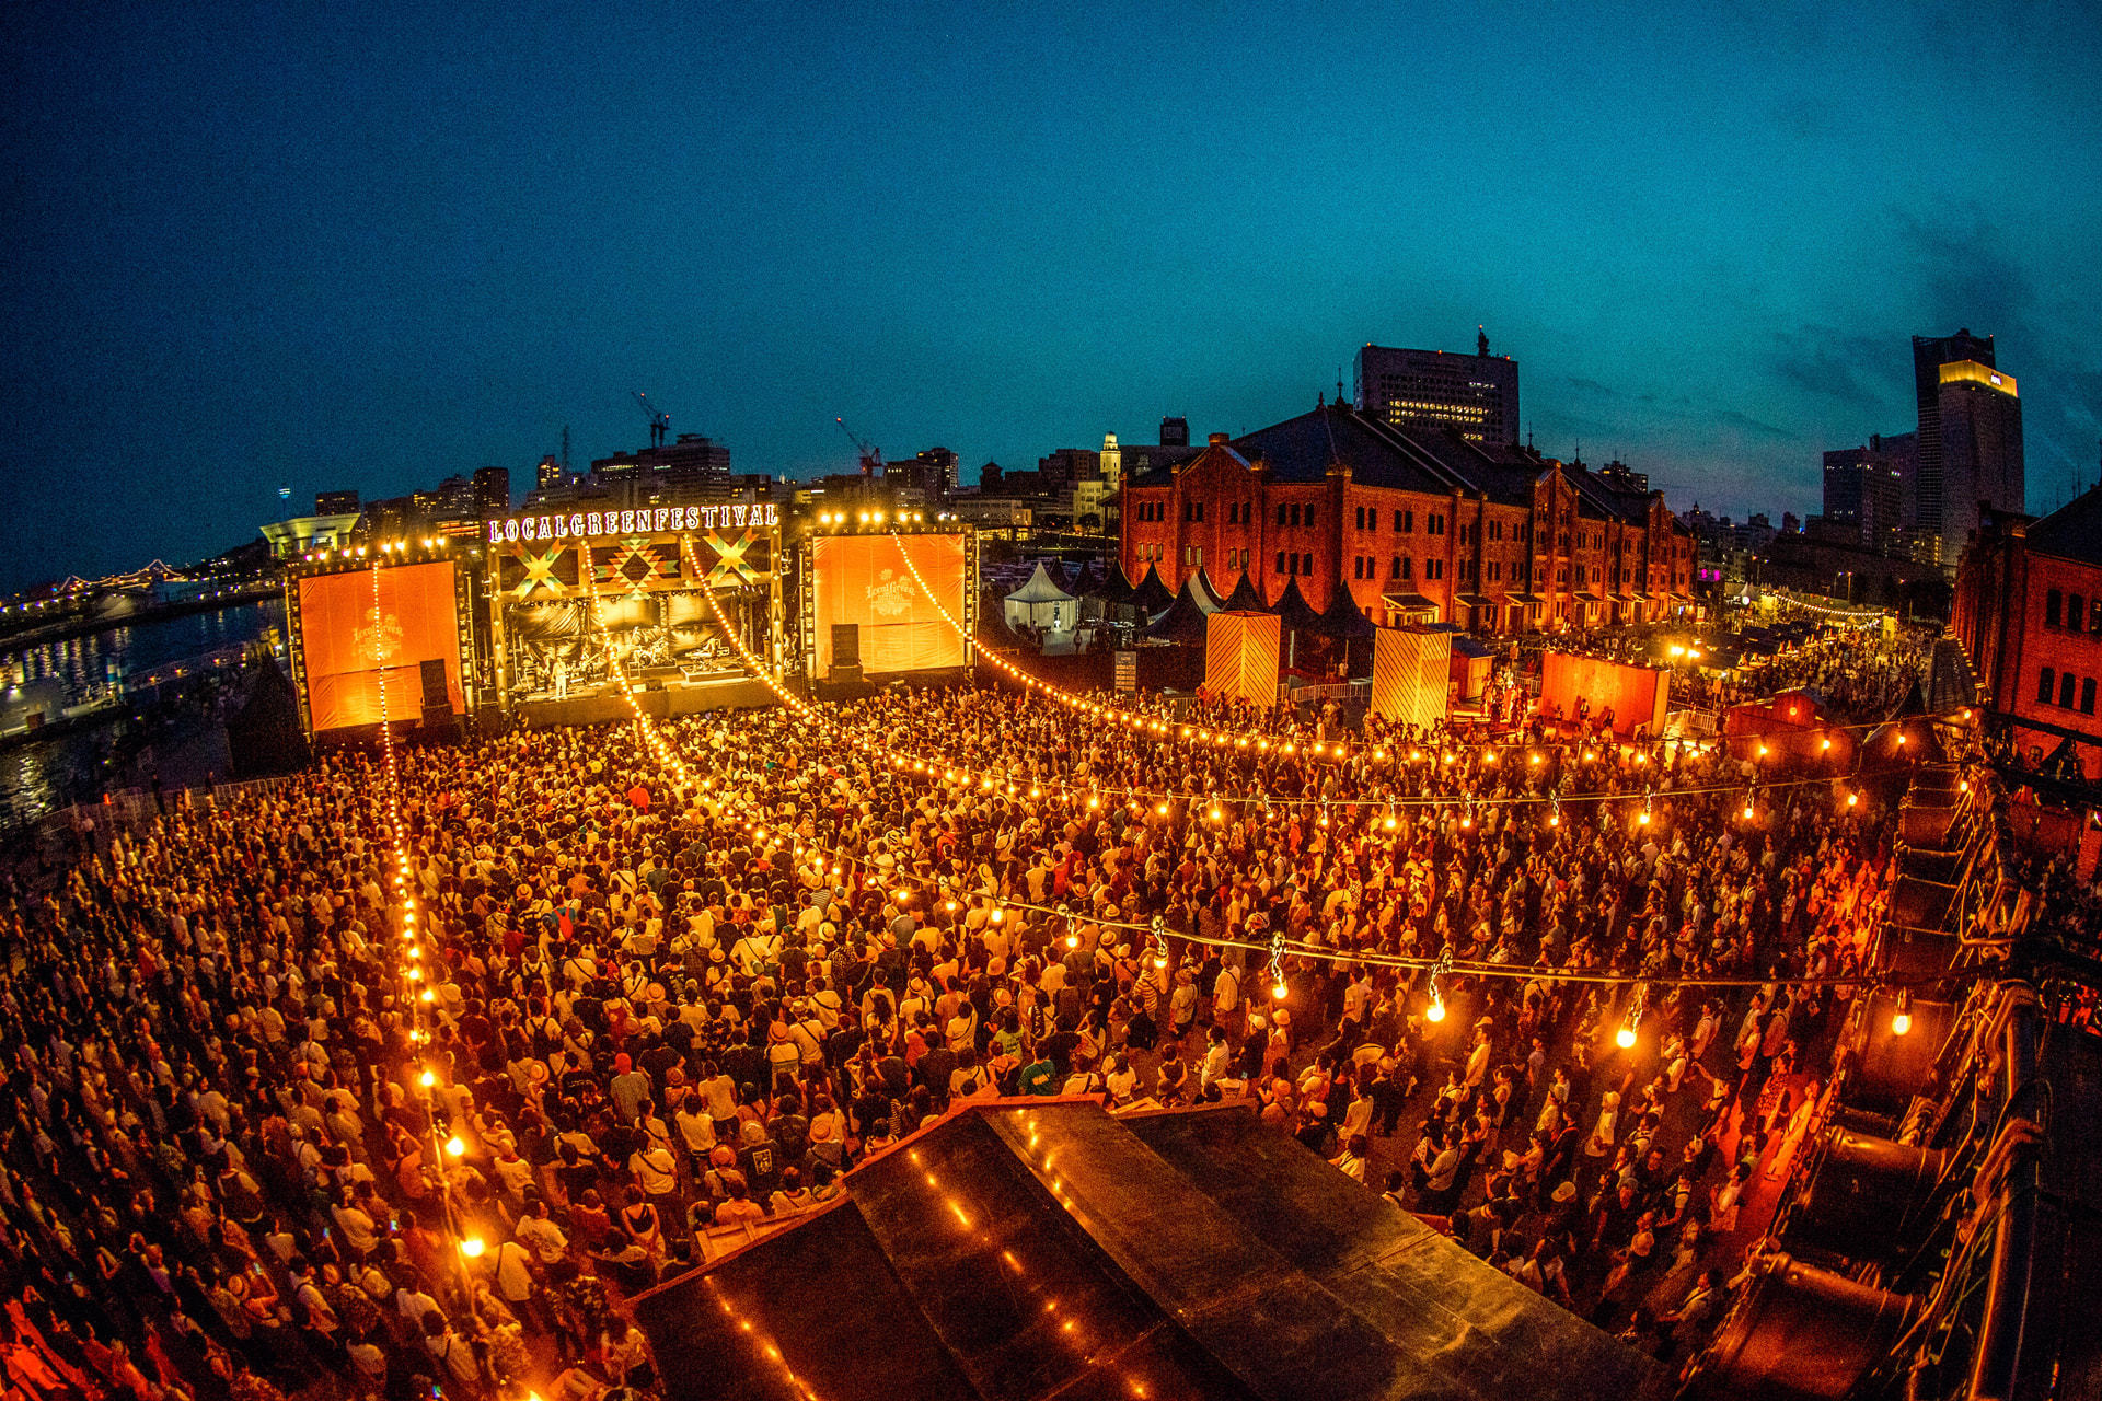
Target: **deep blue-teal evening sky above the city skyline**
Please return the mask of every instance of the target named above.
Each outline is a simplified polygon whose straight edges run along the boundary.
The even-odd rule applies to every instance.
[[[851,468],[837,414],[975,473],[1478,321],[1539,447],[1732,513],[1991,332],[2049,508],[2096,53],[2010,4],[8,4],[0,580],[523,483],[645,441],[635,389],[742,471]]]

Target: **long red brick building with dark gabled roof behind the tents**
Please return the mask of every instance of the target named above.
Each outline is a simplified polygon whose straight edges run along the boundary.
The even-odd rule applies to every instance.
[[[1242,573],[1276,603],[1337,588],[1381,624],[1562,632],[1692,611],[1694,540],[1623,473],[1516,443],[1408,435],[1343,403],[1211,443],[1125,483],[1127,578]]]

